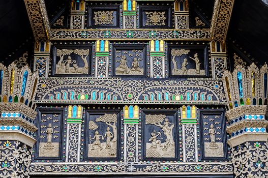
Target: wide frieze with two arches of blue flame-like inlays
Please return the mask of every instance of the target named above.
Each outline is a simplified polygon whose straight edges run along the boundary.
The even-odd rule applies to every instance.
[[[41,78],[37,103],[224,104],[221,80],[121,80]]]

